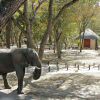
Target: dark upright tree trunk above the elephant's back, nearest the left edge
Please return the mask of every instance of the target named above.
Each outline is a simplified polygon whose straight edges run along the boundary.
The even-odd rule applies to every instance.
[[[9,49],[10,49],[11,30],[12,30],[12,20],[10,19],[8,24],[6,25],[6,47]]]

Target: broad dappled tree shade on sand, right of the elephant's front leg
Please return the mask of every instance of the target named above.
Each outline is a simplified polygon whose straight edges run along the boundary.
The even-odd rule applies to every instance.
[[[96,92],[100,89],[99,82],[100,78],[78,73],[56,75],[30,84],[33,91],[27,94],[41,100],[100,100],[100,93]]]

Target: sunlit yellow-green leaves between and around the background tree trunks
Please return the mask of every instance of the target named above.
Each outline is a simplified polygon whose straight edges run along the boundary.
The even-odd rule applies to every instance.
[[[41,0],[42,1],[42,0]],[[61,9],[61,7],[68,3],[71,0],[54,0],[53,1],[53,19]],[[96,15],[91,17],[91,14],[94,13],[94,4],[97,0],[80,0],[74,6],[67,8],[62,16],[59,18],[55,29],[58,29],[59,32],[62,32],[60,37],[60,42],[64,43],[67,42],[68,44],[75,43],[75,37],[79,35],[80,30],[82,30],[83,26],[83,19],[88,19],[88,25],[86,27],[90,27],[93,30],[96,30],[97,27],[100,26],[98,20],[100,18],[100,14],[98,15],[98,20]],[[35,11],[36,7],[39,5],[38,0],[28,0],[28,12],[30,19],[32,18],[33,12]],[[23,12],[23,6],[20,8]],[[20,22],[22,27],[25,27],[25,21],[23,17],[17,12],[14,17],[18,22]],[[91,19],[91,20],[90,20]],[[35,15],[35,19],[32,23],[32,36],[33,40],[41,41],[45,30],[47,28],[48,22],[48,0],[44,2],[41,7],[38,9]],[[20,30],[18,30],[20,33]],[[53,32],[54,33],[54,32]],[[98,32],[99,33],[99,32]],[[53,34],[54,36],[54,34]],[[52,36],[52,40],[54,37]]]

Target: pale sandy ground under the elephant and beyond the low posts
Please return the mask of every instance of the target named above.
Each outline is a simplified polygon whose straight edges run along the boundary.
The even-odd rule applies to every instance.
[[[52,58],[48,56],[49,60]],[[99,65],[99,50],[63,51],[61,63],[65,60],[73,63],[86,63]],[[67,58],[65,58],[67,57]],[[71,60],[72,59],[72,60]],[[55,60],[55,59],[53,59]],[[17,78],[15,73],[8,75],[11,89],[3,89],[3,80],[0,76],[0,100],[100,100],[100,71],[98,69],[67,71],[66,68],[59,71],[43,73],[37,81],[31,80],[25,75],[22,95],[17,95]]]

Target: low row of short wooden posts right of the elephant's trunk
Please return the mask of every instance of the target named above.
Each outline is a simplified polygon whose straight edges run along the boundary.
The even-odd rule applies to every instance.
[[[44,63],[43,65],[44,65],[43,68],[46,69],[46,72],[59,71],[62,69],[65,69],[66,71],[74,70],[75,72],[82,71],[82,70],[89,71],[93,69],[100,70],[100,64],[96,64],[96,63],[93,63],[90,65],[87,63],[68,64],[68,63],[59,63],[59,62],[54,63],[54,62],[48,61],[47,63]]]

